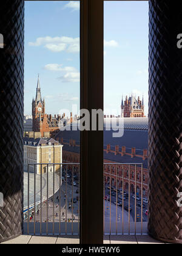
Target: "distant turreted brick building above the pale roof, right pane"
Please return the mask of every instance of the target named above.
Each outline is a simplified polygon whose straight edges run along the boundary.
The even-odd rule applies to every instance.
[[[123,103],[123,98],[121,101],[121,117],[124,118],[140,118],[144,117],[144,98],[142,101],[138,96],[136,100],[135,96],[127,97]]]

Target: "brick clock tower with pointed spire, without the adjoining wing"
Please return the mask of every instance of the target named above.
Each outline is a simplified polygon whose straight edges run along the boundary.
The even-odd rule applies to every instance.
[[[36,87],[36,98],[32,101],[32,118],[33,132],[42,132],[42,136],[44,136],[43,133],[49,131],[49,126],[47,123],[47,115],[45,114],[45,100],[42,101],[41,98],[39,76]]]

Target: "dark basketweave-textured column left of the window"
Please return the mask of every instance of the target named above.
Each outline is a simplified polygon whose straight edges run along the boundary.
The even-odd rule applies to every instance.
[[[0,33],[0,242],[22,232],[24,1],[1,2]]]

